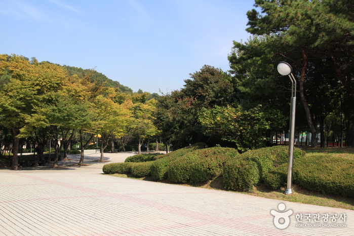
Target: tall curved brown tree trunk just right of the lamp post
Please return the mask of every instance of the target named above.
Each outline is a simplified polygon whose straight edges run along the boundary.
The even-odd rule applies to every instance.
[[[313,121],[311,119],[311,112],[310,112],[310,108],[308,106],[308,103],[307,103],[307,100],[305,97],[305,91],[304,91],[307,56],[306,56],[303,48],[301,49],[301,52],[302,52],[302,69],[301,69],[301,73],[300,73],[300,83],[299,83],[300,97],[301,97],[302,105],[304,106],[304,109],[305,109],[307,124],[311,130],[311,135],[312,135],[311,136],[311,147],[317,147],[317,138],[316,138],[317,131],[316,131],[316,127],[313,125]]]

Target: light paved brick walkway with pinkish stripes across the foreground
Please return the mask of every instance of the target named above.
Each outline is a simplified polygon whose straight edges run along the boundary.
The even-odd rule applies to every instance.
[[[237,192],[103,175],[99,154],[87,155],[85,167],[70,159],[59,162],[63,169],[0,170],[0,235],[354,235],[354,211],[290,202],[283,210],[280,201]],[[289,209],[289,226],[277,228],[270,211]]]

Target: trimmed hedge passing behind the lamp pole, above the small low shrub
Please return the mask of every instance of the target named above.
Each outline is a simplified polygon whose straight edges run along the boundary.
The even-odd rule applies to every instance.
[[[305,152],[299,148],[294,148],[294,160],[304,156]],[[263,175],[274,168],[288,163],[289,146],[264,147],[255,150],[249,150],[241,154],[245,160],[251,160],[257,163],[261,179]]]

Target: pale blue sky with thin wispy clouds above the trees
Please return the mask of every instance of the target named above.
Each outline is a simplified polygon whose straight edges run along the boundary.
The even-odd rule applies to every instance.
[[[212,65],[229,69],[247,41],[254,0],[0,0],[0,54],[95,68],[113,81],[169,93]],[[160,93],[159,93],[160,94]]]

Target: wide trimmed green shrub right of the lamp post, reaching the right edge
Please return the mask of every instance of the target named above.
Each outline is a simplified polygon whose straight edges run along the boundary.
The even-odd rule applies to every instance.
[[[294,162],[294,183],[322,193],[354,198],[354,160],[325,154]]]

